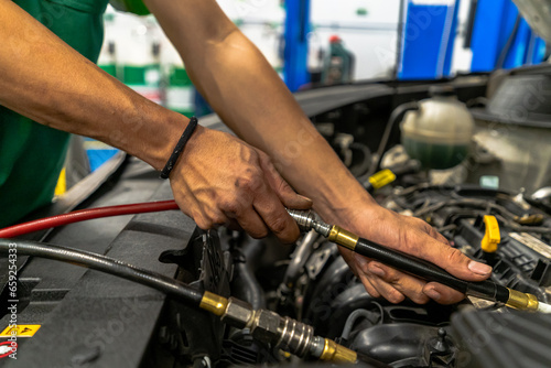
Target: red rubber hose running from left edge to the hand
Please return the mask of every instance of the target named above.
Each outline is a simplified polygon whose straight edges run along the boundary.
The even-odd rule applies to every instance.
[[[74,210],[68,214],[40,218],[33,221],[13,225],[0,229],[0,238],[14,238],[23,234],[29,234],[37,230],[48,229],[51,227],[58,227],[78,221],[85,221],[87,219],[93,219],[93,218],[155,213],[170,209],[179,209],[175,201],[145,202],[145,203],[134,203],[130,205]]]

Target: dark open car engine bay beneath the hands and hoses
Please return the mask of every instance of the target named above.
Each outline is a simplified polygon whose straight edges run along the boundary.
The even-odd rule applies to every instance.
[[[487,97],[489,83],[486,75],[442,82],[474,108]],[[369,183],[374,167],[393,172],[391,183],[372,188],[380,205],[425,220],[452,247],[493,266],[496,283],[550,302],[551,205],[550,196],[538,191],[551,184],[549,158],[541,163],[530,161],[540,170],[510,177],[510,167],[519,163],[507,161],[480,140],[458,166],[439,171],[420,166],[404,153],[400,129],[390,125],[389,117],[398,106],[426,98],[430,87],[423,83],[344,85],[307,90],[296,98],[360,183]],[[216,117],[203,123],[224,129]],[[501,123],[477,120],[474,141],[493,130],[503,132]],[[539,136],[549,137],[549,127],[518,126],[511,134],[520,137],[536,129],[541,130]],[[168,183],[160,183],[144,163],[117,160],[35,216],[171,198]],[[504,185],[488,185],[496,177]],[[494,252],[482,247],[485,216],[493,216],[499,225],[500,240]],[[201,290],[238,297],[253,309],[295,318],[313,326],[315,334],[357,351],[359,364],[366,367],[545,367],[551,361],[549,315],[471,296],[454,305],[419,305],[408,300],[392,304],[372,297],[337,246],[313,231],[294,245],[282,245],[274,237],[256,240],[226,228],[203,231],[172,210],[73,224],[24,238],[107,255]],[[2,268],[7,267],[3,261]],[[230,327],[214,315],[128,280],[40,258],[21,257],[18,268],[18,324],[40,325],[40,329],[18,342],[18,361],[0,359],[0,366],[315,364],[255,339],[247,328]],[[4,288],[2,329],[10,321],[9,300]]]

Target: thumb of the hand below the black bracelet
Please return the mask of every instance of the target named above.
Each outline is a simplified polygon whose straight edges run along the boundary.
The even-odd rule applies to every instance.
[[[266,181],[283,206],[294,209],[309,209],[312,207],[312,199],[296,194],[276,170],[276,166],[273,166],[273,163],[266,154],[260,155],[260,165],[264,172]]]

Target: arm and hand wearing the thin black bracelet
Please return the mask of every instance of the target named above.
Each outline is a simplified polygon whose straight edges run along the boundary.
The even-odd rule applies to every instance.
[[[0,0],[0,24],[1,105],[42,125],[120,148],[156,170],[163,167],[187,118],[107,75],[12,1]],[[44,145],[47,149],[47,142]],[[298,227],[281,227],[274,214],[284,214],[284,205],[310,205],[282,181],[266,154],[202,127],[171,182],[180,207],[202,228],[236,220],[252,236],[270,228],[283,241],[292,241]]]

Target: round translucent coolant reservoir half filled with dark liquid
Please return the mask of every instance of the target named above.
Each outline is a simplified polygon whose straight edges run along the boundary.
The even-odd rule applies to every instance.
[[[408,111],[401,123],[402,144],[424,169],[443,170],[460,164],[468,153],[474,120],[451,87],[432,87],[431,98]]]

